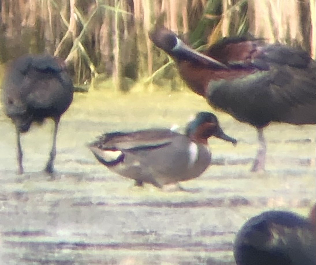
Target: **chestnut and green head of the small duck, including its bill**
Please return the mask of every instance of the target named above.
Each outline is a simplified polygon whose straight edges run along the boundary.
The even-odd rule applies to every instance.
[[[207,143],[207,139],[215,136],[219,139],[237,144],[237,140],[225,134],[219,126],[217,117],[210,112],[198,112],[195,119],[186,127],[186,135],[200,143]]]

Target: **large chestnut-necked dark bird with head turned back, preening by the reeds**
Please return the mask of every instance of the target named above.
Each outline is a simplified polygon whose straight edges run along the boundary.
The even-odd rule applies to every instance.
[[[260,147],[252,171],[264,170],[263,129],[270,122],[316,123],[316,62],[307,52],[232,37],[200,53],[166,28],[157,26],[149,36],[174,59],[195,93],[212,107],[257,128]]]

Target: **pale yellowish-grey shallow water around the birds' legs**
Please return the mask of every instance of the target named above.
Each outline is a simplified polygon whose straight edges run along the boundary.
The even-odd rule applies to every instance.
[[[62,117],[56,173],[44,168],[52,122],[22,138],[25,174],[16,174],[15,130],[0,112],[0,264],[234,264],[240,226],[269,209],[307,215],[315,194],[315,126],[266,128],[265,173],[249,172],[255,129],[213,111],[237,147],[210,139],[213,165],[183,182],[188,192],[133,187],[99,164],[86,143],[101,133],[185,123],[213,111],[191,92],[76,94]]]

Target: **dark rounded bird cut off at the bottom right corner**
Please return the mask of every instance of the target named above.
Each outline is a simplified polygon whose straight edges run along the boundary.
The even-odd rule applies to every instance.
[[[268,211],[249,219],[234,242],[237,265],[315,265],[315,205],[308,219]]]

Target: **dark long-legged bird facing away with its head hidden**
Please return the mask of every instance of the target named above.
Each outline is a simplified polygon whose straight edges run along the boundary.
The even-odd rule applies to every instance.
[[[8,67],[2,84],[5,113],[16,128],[18,172],[23,173],[21,133],[32,122],[42,123],[52,118],[55,123],[52,149],[46,172],[52,173],[56,156],[56,136],[61,115],[73,97],[73,85],[61,59],[50,55],[24,55]]]

